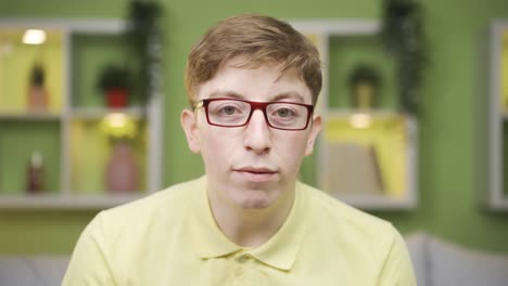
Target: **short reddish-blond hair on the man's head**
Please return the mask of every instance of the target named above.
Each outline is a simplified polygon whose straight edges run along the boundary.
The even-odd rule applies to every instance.
[[[192,47],[185,75],[187,94],[192,103],[196,88],[213,79],[229,60],[243,56],[239,67],[255,68],[278,63],[281,72],[295,70],[313,95],[321,90],[321,63],[316,47],[288,23],[244,14],[226,18],[209,28]]]

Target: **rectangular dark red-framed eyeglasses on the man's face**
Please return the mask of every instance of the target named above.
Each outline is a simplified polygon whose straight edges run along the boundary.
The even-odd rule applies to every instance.
[[[280,130],[305,130],[314,112],[309,104],[294,102],[251,102],[236,99],[206,99],[193,104],[204,107],[208,125],[242,127],[251,120],[256,109],[263,110],[269,127]]]

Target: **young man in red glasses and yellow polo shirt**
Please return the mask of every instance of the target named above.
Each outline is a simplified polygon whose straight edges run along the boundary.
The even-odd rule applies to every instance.
[[[297,181],[321,127],[316,48],[278,20],[212,27],[181,114],[206,176],[101,212],[64,285],[416,285],[388,222]]]

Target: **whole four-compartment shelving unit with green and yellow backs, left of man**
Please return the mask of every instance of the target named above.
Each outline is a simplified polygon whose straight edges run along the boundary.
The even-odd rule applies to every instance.
[[[46,32],[46,42],[22,41],[25,30],[34,28]],[[122,20],[0,20],[1,209],[102,209],[161,188],[161,92],[149,94],[148,104],[132,92],[127,108],[109,108],[97,88],[105,66],[128,63],[135,68],[139,62],[126,49],[126,28]],[[36,63],[46,72],[43,92],[29,81]],[[137,82],[132,88],[138,90]],[[47,96],[36,101],[28,92]],[[43,109],[29,109],[30,104]],[[126,141],[130,161],[140,170],[130,168],[136,177],[129,178],[139,178],[135,188],[140,191],[111,195],[105,170],[125,171],[117,144]],[[27,168],[35,152],[43,157],[48,192],[27,195]]]

